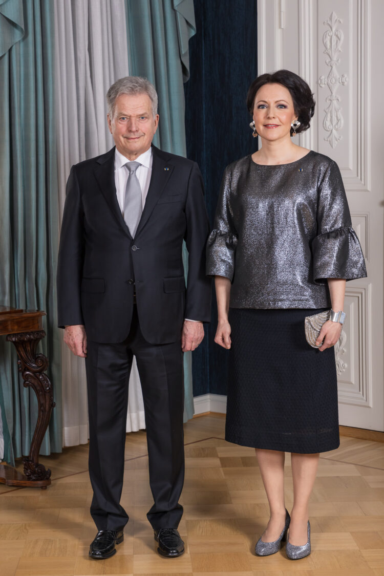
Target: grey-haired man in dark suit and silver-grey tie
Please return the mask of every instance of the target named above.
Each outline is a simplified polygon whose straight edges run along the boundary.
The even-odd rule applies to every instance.
[[[195,162],[151,145],[159,117],[150,82],[121,78],[107,103],[116,146],[72,167],[58,262],[59,326],[86,362],[91,514],[98,529],[89,555],[115,554],[128,521],[120,496],[135,355],[154,498],[147,517],[159,554],[179,556],[183,352],[199,346],[203,322],[210,320],[203,183]]]

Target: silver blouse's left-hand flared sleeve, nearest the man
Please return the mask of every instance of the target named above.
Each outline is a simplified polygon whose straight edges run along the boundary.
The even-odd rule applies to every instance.
[[[237,234],[230,205],[231,173],[225,170],[216,208],[214,229],[207,241],[207,275],[233,279]]]

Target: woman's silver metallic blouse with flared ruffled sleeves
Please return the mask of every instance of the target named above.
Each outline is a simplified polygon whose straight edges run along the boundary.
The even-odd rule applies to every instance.
[[[207,274],[230,279],[233,308],[330,307],[327,278],[367,275],[337,164],[310,151],[290,164],[246,156],[227,166]]]

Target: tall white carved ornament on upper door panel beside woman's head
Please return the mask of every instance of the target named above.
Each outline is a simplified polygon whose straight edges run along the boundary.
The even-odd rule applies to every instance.
[[[340,96],[336,94],[337,88],[340,84],[345,86],[348,83],[347,74],[339,74],[337,66],[340,65],[340,52],[341,44],[343,44],[344,34],[341,28],[338,28],[338,24],[343,24],[343,20],[336,16],[335,12],[330,14],[328,20],[324,22],[325,26],[328,26],[322,37],[322,42],[324,44],[325,50],[324,54],[328,56],[325,63],[329,66],[328,76],[322,75],[318,79],[318,84],[321,88],[328,86],[329,96],[326,97],[326,102],[328,107],[324,109],[325,117],[323,120],[323,127],[326,132],[329,132],[328,136],[324,138],[326,142],[329,142],[330,146],[334,148],[342,138],[341,134],[338,132],[343,128],[344,119],[341,114],[340,106]]]

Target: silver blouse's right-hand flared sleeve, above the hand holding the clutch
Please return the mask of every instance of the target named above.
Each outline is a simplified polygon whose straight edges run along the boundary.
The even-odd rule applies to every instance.
[[[330,162],[318,190],[318,235],[312,241],[315,284],[327,278],[352,280],[367,276],[364,256],[352,228],[347,196],[336,162]]]

